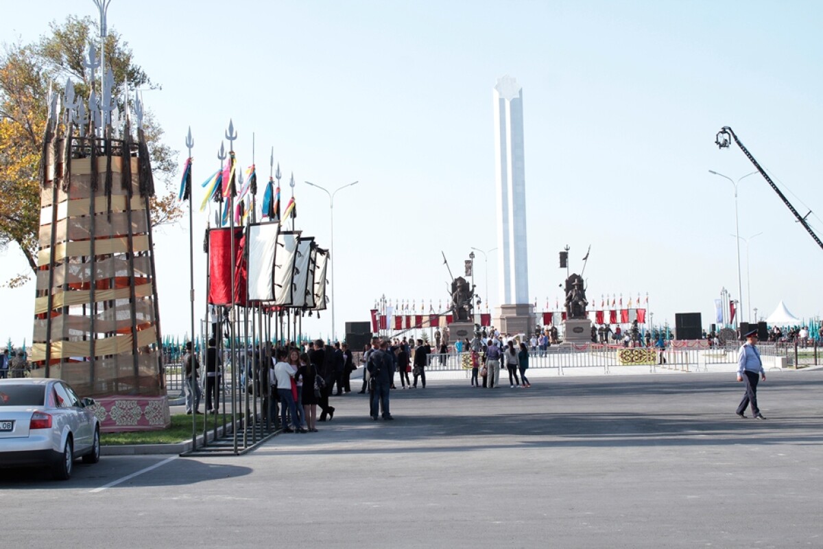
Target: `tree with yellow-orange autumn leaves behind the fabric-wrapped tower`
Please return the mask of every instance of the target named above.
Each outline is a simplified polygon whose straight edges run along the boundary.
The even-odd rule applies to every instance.
[[[61,24],[52,22],[49,33],[33,44],[5,44],[0,56],[0,245],[19,245],[32,272],[36,269],[38,174],[49,86],[63,93],[71,78],[76,95],[88,97],[95,83],[83,65],[90,42],[100,51],[100,36],[91,17],[68,16]],[[128,42],[114,30],[106,37],[105,59],[117,89],[159,87],[134,62]],[[175,151],[162,142],[163,129],[151,113],[146,113],[144,128],[155,179],[165,184],[165,193],[151,201],[151,222],[153,226],[173,223],[183,215],[170,186],[176,170]],[[26,281],[29,275],[18,275],[10,284]]]

